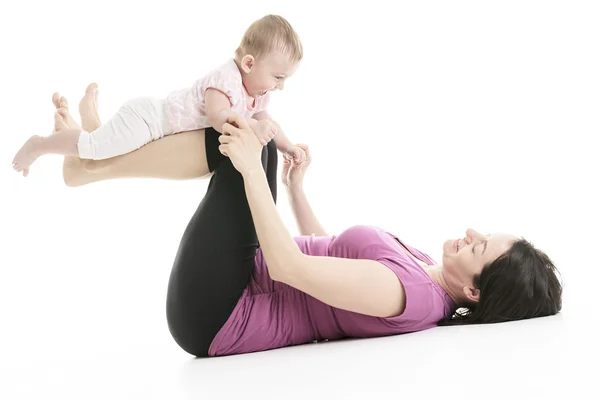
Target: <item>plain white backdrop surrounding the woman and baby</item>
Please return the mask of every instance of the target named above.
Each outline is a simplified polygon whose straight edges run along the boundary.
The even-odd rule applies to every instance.
[[[597,2],[218,3],[2,3],[0,398],[595,390]],[[50,133],[54,91],[75,113],[86,85],[99,83],[106,120],[129,98],[192,84],[268,13],[304,44],[271,113],[311,146],[305,186],[323,225],[377,225],[437,260],[468,227],[524,236],[562,272],[559,316],[194,360],[169,335],[165,295],[207,181],[72,189],[59,156],[27,179],[11,169],[30,135]],[[296,234],[283,190],[279,209]]]

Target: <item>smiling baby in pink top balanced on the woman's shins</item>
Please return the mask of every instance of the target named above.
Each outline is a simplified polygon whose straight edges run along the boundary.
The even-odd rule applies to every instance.
[[[93,132],[64,129],[46,137],[32,136],[17,152],[13,168],[29,173],[44,154],[101,160],[132,152],[166,135],[213,127],[221,132],[231,114],[245,118],[263,145],[271,139],[296,162],[306,159],[267,112],[269,92],[283,89],[302,59],[302,44],[282,17],[267,15],[246,30],[235,58],[213,69],[190,88],[165,99],[126,102]],[[222,132],[221,132],[222,133]]]

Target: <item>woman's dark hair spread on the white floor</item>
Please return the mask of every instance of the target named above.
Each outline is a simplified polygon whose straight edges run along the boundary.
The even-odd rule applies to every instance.
[[[474,279],[479,302],[459,306],[439,325],[485,324],[544,317],[562,308],[562,285],[550,258],[525,239]]]

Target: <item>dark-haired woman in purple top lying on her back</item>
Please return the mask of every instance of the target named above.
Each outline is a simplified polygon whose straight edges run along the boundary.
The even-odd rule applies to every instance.
[[[99,123],[96,95],[91,85],[80,103],[88,131]],[[53,101],[55,129],[72,127],[64,98],[56,94]],[[303,235],[292,238],[275,209],[275,147],[263,148],[242,119],[229,121],[223,131],[174,135],[110,160],[65,159],[70,186],[213,173],[183,234],[167,294],[170,331],[190,354],[239,354],[560,311],[554,265],[512,235],[467,230],[464,238],[444,243],[439,265],[375,227],[329,236],[302,190],[310,164],[306,146],[307,163],[286,160],[283,168]]]

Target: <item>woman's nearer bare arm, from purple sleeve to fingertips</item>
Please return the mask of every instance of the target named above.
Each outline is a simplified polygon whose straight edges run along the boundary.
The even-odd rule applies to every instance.
[[[405,293],[396,275],[373,260],[303,254],[285,228],[260,162],[260,145],[243,119],[223,127],[220,150],[242,174],[263,256],[273,280],[290,285],[332,307],[375,317],[404,310]]]

